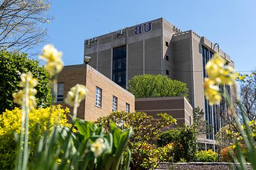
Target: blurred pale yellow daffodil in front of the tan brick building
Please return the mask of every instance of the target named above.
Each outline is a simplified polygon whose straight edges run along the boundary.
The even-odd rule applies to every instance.
[[[86,94],[88,94],[88,89],[82,84],[76,84],[76,86],[72,87],[70,91],[68,91],[65,103],[73,107],[77,96],[78,107],[81,101],[84,100]]]

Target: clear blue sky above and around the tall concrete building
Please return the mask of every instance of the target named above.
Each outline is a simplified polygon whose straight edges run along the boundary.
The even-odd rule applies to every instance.
[[[218,42],[236,70],[256,69],[255,0],[54,0],[50,14],[48,42],[63,52],[65,65],[82,63],[86,38],[163,17]]]

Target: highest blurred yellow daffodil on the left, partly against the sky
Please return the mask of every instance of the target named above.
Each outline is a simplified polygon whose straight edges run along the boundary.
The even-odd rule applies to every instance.
[[[62,53],[57,51],[51,44],[45,45],[42,51],[43,54],[41,54],[39,58],[46,60],[46,70],[49,74],[53,76],[60,73],[63,69]]]

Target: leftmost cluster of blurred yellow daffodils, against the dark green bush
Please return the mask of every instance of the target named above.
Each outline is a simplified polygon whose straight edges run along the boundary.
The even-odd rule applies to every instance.
[[[32,109],[36,105],[36,92],[37,90],[34,88],[38,84],[38,80],[33,78],[32,73],[23,73],[20,75],[20,87],[23,87],[22,90],[18,91],[17,93],[13,94],[14,97],[14,103],[19,104],[22,106],[23,100],[26,99],[26,88],[28,90],[28,107],[29,109]]]

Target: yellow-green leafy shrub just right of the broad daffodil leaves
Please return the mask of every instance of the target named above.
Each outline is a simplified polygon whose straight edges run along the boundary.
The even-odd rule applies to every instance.
[[[115,122],[121,129],[133,128],[134,134],[128,145],[131,149],[131,162],[134,169],[155,168],[168,156],[170,148],[157,148],[153,145],[161,130],[174,125],[176,120],[166,113],[158,114],[154,119],[146,113],[113,112],[109,116],[101,117],[97,124],[103,123],[106,130],[110,129],[110,122]],[[165,150],[165,151],[163,151]]]

